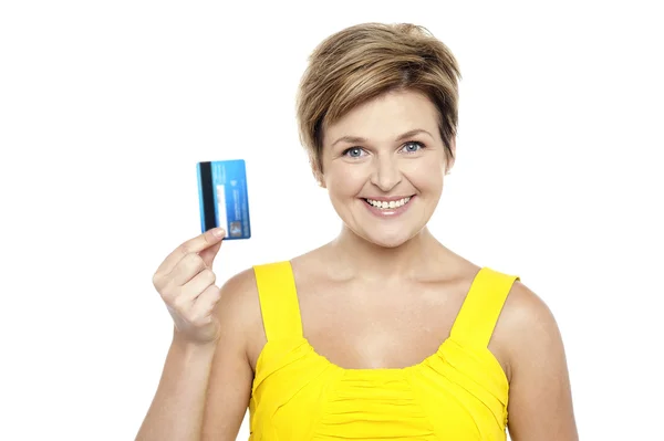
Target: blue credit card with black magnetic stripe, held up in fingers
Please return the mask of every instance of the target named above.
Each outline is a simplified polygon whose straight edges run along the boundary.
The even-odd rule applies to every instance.
[[[224,227],[226,239],[251,238],[243,159],[198,162],[200,231]]]

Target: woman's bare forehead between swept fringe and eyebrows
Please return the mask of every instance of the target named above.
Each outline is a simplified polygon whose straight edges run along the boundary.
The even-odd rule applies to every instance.
[[[438,112],[430,99],[418,92],[390,92],[359,105],[325,127],[323,144],[342,136],[393,141],[398,135],[419,128],[436,134]]]

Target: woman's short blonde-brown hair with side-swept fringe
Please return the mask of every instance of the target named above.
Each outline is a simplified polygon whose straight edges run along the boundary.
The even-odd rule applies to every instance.
[[[323,128],[392,91],[415,91],[432,101],[446,154],[453,158],[458,80],[449,49],[421,25],[363,23],[328,36],[310,55],[297,97],[300,141],[317,179],[323,172]]]

